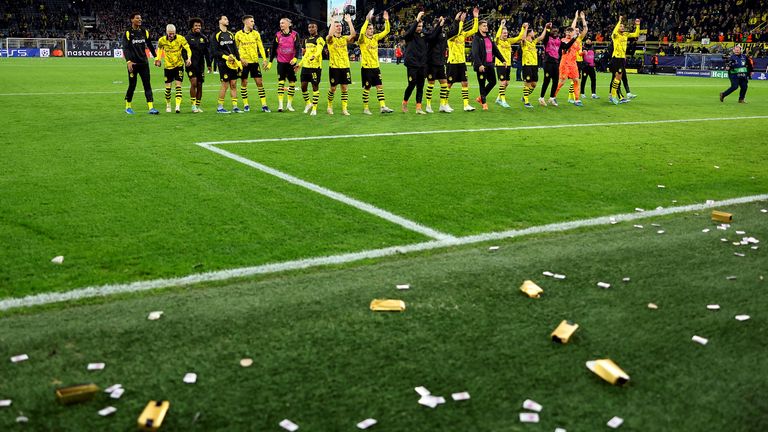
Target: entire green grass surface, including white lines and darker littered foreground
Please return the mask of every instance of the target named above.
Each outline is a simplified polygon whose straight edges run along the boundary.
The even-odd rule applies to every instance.
[[[137,91],[129,116],[120,60],[0,60],[0,351],[30,357],[0,362],[0,425],[126,430],[160,398],[168,430],[768,427],[764,245],[733,244],[768,238],[768,83],[743,105],[718,101],[726,80],[633,75],[639,97],[614,106],[602,74],[602,99],[526,110],[513,82],[512,108],[471,113],[454,86],[456,112],[419,116],[399,110],[405,69],[382,72],[393,114],[373,97],[363,115],[355,83],[352,116],[339,92],[329,116],[324,81],[317,117],[300,92],[297,112],[260,112],[253,82],[255,112],[219,115],[208,75],[204,113],[185,83],[181,114],[147,115]],[[555,345],[563,319],[581,328]],[[598,358],[629,384],[589,372]],[[126,395],[55,403],[82,382]],[[420,385],[447,403],[420,406]]]

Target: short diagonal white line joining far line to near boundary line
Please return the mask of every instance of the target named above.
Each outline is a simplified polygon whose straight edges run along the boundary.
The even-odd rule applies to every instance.
[[[412,220],[406,219],[404,217],[398,216],[394,213],[390,213],[386,210],[382,210],[376,206],[373,206],[371,204],[365,203],[360,200],[356,200],[354,198],[348,197],[344,194],[341,194],[339,192],[332,191],[330,189],[324,188],[322,186],[316,185],[314,183],[310,183],[306,180],[302,180],[298,177],[294,177],[290,174],[286,174],[282,171],[276,170],[274,168],[268,167],[264,164],[260,164],[258,162],[252,161],[250,159],[244,158],[242,156],[236,155],[234,153],[228,152],[226,150],[222,150],[218,147],[215,147],[213,145],[208,144],[198,144],[200,147],[203,147],[204,149],[210,150],[214,153],[218,153],[222,156],[228,157],[232,160],[235,160],[237,162],[240,162],[242,164],[248,165],[249,167],[256,168],[259,171],[265,172],[267,174],[273,175],[279,179],[285,180],[288,183],[295,184],[297,186],[301,186],[305,189],[309,189],[312,192],[319,193],[320,195],[324,195],[328,198],[334,199],[336,201],[342,202],[346,205],[355,207],[356,209],[362,210],[366,213],[370,213],[374,216],[380,217],[384,220],[388,220],[392,223],[395,223],[397,225],[402,226],[403,228],[409,229],[411,231],[415,231],[417,233],[423,234],[427,237],[431,237],[433,239],[437,240],[449,240],[454,238],[453,236],[449,234],[442,233],[440,231],[434,230],[432,228],[426,227],[424,225],[421,225],[417,222],[414,222]]]

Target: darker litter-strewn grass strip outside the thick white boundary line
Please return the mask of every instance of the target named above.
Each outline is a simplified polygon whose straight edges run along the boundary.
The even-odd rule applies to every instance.
[[[765,430],[768,363],[757,349],[768,331],[759,300],[765,251],[720,241],[740,239],[736,230],[768,238],[763,207],[724,209],[735,215],[727,231],[691,213],[644,229],[621,223],[519,238],[496,252],[465,247],[6,316],[0,399],[13,405],[0,409],[0,426],[131,430],[146,402],[163,398],[171,401],[169,431],[280,430],[283,418],[302,430],[354,430],[368,417],[389,431],[594,431],[607,430],[614,415],[624,431]],[[518,291],[529,278],[542,298]],[[399,283],[412,288],[397,291]],[[373,298],[401,298],[408,309],[373,313]],[[722,309],[708,311],[711,303]],[[151,310],[165,315],[147,321]],[[742,313],[752,319],[734,320]],[[562,319],[582,326],[568,345],[549,340]],[[694,334],[709,344],[692,342]],[[22,352],[29,361],[7,361]],[[254,366],[241,368],[243,357]],[[604,357],[629,373],[625,388],[584,366]],[[88,372],[89,362],[107,366]],[[197,384],[182,383],[191,371]],[[55,382],[119,382],[126,393],[62,407]],[[418,405],[418,385],[449,402]],[[472,399],[450,401],[458,391]],[[518,422],[527,398],[544,406],[539,425]],[[117,413],[99,417],[107,405]],[[30,419],[23,428],[14,426],[19,413]]]

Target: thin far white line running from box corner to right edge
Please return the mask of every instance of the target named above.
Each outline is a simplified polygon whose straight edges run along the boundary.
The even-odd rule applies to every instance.
[[[200,146],[216,146],[223,144],[253,144],[253,143],[267,143],[267,142],[290,142],[290,141],[314,141],[314,140],[327,140],[327,139],[344,139],[344,138],[375,138],[375,137],[392,137],[392,136],[405,136],[405,135],[436,135],[436,134],[451,134],[451,133],[478,133],[478,132],[510,132],[521,130],[535,130],[535,129],[563,129],[563,128],[583,128],[583,127],[602,127],[602,126],[639,126],[639,125],[658,125],[658,124],[670,124],[670,123],[699,123],[710,121],[725,121],[725,120],[765,120],[768,116],[747,116],[747,117],[713,117],[713,118],[694,118],[694,119],[675,119],[675,120],[648,120],[648,121],[632,121],[632,122],[614,122],[614,123],[572,123],[572,124],[550,124],[550,125],[536,125],[536,126],[508,126],[508,127],[494,127],[494,128],[476,128],[476,129],[440,129],[440,130],[428,130],[428,131],[404,131],[404,132],[381,132],[370,134],[349,134],[349,135],[327,135],[327,136],[302,136],[302,137],[283,137],[283,138],[257,138],[246,140],[229,140],[229,141],[208,141],[196,143]]]

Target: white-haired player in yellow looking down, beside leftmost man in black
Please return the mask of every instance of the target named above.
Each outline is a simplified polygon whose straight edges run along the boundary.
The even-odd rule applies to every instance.
[[[186,60],[181,53],[186,52]],[[176,26],[165,26],[165,36],[157,41],[157,60],[155,66],[160,67],[161,58],[165,58],[165,112],[171,112],[171,83],[176,86],[176,114],[181,112],[181,83],[184,81],[184,66],[192,64],[192,49],[182,35],[176,34]]]

